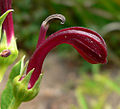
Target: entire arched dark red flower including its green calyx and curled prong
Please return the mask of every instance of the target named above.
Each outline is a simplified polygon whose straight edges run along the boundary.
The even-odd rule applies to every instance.
[[[107,48],[103,38],[90,29],[70,27],[59,30],[45,39],[50,22],[56,19],[61,20],[61,23],[65,22],[65,17],[61,14],[51,15],[43,21],[36,50],[27,65],[26,76],[21,74],[14,79],[15,97],[19,97],[24,93],[24,97],[20,98],[21,101],[28,101],[37,95],[44,59],[57,45],[63,43],[72,45],[86,61],[92,64],[107,62]],[[23,86],[25,87],[23,88]]]

